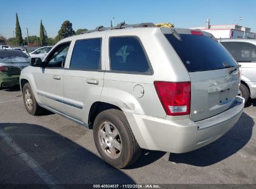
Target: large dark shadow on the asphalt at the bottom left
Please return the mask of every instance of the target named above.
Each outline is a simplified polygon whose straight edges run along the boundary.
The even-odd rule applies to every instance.
[[[135,183],[75,142],[26,123],[0,123],[0,170],[2,184],[45,184],[48,175],[60,185]]]

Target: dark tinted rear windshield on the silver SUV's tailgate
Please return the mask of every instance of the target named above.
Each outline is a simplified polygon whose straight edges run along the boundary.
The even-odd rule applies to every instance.
[[[189,72],[217,70],[237,65],[227,50],[209,36],[180,34],[181,40],[172,34],[165,36]]]

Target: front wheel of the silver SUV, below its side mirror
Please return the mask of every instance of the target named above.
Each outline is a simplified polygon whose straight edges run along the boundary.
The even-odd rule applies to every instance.
[[[32,116],[39,116],[44,113],[44,108],[41,108],[36,101],[36,98],[31,90],[31,85],[26,83],[22,88],[22,96],[25,108]]]

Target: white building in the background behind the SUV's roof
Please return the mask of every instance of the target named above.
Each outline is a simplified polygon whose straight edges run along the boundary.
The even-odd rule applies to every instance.
[[[251,32],[249,27],[242,27],[237,24],[230,25],[210,25],[209,19],[206,21],[205,27],[194,27],[191,29],[200,29],[220,38],[247,38],[256,39],[256,33]]]

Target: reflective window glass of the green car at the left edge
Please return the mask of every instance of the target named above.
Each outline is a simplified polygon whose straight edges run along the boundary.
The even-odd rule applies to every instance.
[[[0,63],[29,63],[29,56],[18,50],[1,50]]]

